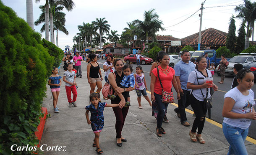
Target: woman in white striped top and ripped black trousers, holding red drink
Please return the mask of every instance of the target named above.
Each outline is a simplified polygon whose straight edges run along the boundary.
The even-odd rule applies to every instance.
[[[206,77],[212,76],[211,71],[206,69],[207,61],[204,56],[200,56],[196,59],[196,70],[192,71],[188,76],[187,88],[192,89],[190,95],[191,107],[193,108],[196,118],[193,122],[192,130],[189,132],[190,138],[193,142],[199,140],[201,144],[205,141],[202,138],[202,131],[204,128],[204,121],[207,109],[204,108],[204,99],[211,97],[210,87],[217,91],[218,86],[214,83],[206,84]],[[208,89],[208,90],[207,90]],[[197,134],[196,130],[198,128]]]

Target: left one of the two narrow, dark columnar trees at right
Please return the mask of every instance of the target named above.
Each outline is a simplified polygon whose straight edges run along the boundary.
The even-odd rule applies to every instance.
[[[235,52],[235,17],[232,15],[230,18],[230,24],[228,28],[227,40],[226,40],[226,47],[230,49],[231,53]]]

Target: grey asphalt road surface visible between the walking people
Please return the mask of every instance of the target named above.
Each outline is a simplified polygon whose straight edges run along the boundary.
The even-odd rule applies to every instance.
[[[101,69],[103,69],[103,60],[99,60],[99,66]],[[135,68],[136,68],[136,64],[131,64],[133,66],[133,73],[136,73]],[[141,65],[142,69],[144,71],[145,74],[145,79],[146,79],[146,83],[147,83],[147,87],[148,87],[148,91],[150,91],[150,76],[149,76],[149,71],[151,69],[152,65]],[[217,84],[217,86],[219,87],[219,91],[215,91],[215,93],[213,94],[212,98],[213,98],[213,108],[211,109],[211,119],[222,124],[223,122],[223,117],[222,117],[222,108],[223,108],[223,103],[224,103],[224,95],[227,91],[230,90],[231,88],[231,84],[232,84],[232,79],[233,76],[230,75],[226,75],[225,76],[225,80],[224,80],[224,84],[219,84],[218,81],[220,81],[220,76],[217,75],[217,73],[214,74],[214,79],[213,82],[214,84]],[[104,80],[104,79],[103,79]],[[252,87],[253,92],[256,92],[256,86],[254,84],[254,86]],[[175,90],[173,90],[173,94],[174,96],[176,96],[176,92]],[[256,100],[254,98],[254,100]],[[175,99],[175,103],[178,104],[177,99]],[[254,107],[256,109],[256,107]],[[188,109],[191,109],[191,106],[188,107]],[[208,114],[207,116],[208,117]],[[190,122],[191,124],[193,122]],[[249,137],[252,137],[253,139],[256,139],[256,121],[252,121],[251,122],[251,126],[249,127]]]

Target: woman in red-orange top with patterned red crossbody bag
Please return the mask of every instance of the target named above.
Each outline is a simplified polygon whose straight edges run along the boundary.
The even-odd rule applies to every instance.
[[[175,79],[175,71],[172,67],[169,67],[169,56],[168,54],[162,54],[159,58],[160,66],[153,69],[151,74],[150,90],[154,91],[151,94],[151,101],[153,104],[157,104],[157,136],[161,137],[162,134],[166,134],[162,128],[163,118],[169,103],[173,102],[172,84],[175,91],[177,92],[177,98],[180,99],[180,93],[178,84]]]

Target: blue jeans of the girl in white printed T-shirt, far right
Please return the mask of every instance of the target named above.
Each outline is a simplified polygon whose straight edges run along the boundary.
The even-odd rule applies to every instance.
[[[230,144],[227,155],[248,155],[246,151],[246,137],[248,135],[248,129],[241,129],[239,127],[233,127],[222,123],[222,130],[227,139],[227,142]]]

